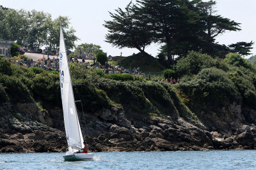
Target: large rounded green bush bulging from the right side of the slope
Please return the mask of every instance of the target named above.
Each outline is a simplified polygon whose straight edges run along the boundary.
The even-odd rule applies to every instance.
[[[188,94],[191,104],[201,106],[225,106],[232,101],[241,101],[236,85],[228,78],[228,73],[216,68],[202,69],[193,80],[184,80],[180,89]]]

